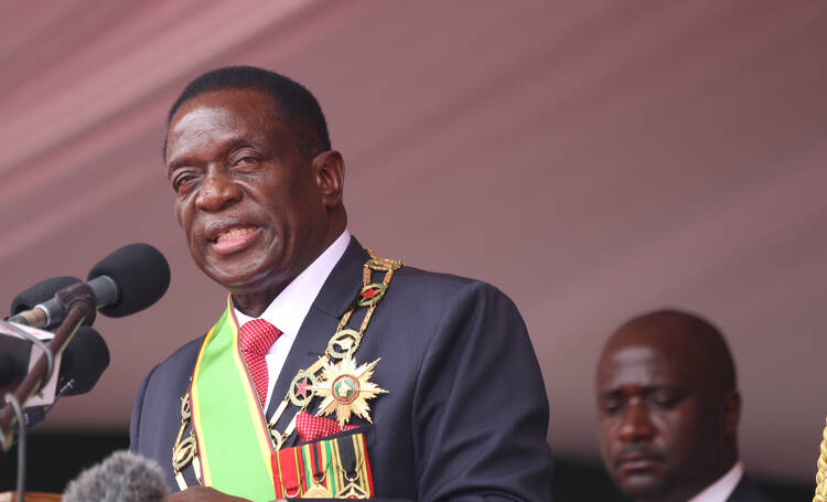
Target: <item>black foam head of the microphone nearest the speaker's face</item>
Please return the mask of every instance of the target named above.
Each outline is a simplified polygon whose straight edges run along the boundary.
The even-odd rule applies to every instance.
[[[139,312],[158,301],[170,286],[170,266],[161,252],[149,244],[130,244],[101,259],[88,279],[107,276],[118,285],[116,302],[100,308],[111,318]]]

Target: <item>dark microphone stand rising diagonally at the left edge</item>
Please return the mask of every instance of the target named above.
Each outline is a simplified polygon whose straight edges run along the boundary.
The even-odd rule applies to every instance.
[[[79,285],[78,285],[79,286]],[[86,286],[85,284],[83,286]],[[58,293],[60,296],[60,293]],[[60,298],[63,305],[67,306],[68,313],[54,334],[54,338],[46,344],[47,351],[44,352],[34,366],[25,376],[23,382],[18,385],[13,393],[7,393],[3,402],[9,406],[0,409],[0,450],[9,451],[14,442],[14,435],[11,427],[17,423],[18,436],[18,498],[23,502],[25,488],[25,424],[23,424],[22,409],[29,398],[36,394],[43,385],[49,382],[50,373],[54,370],[52,362],[55,354],[60,354],[72,341],[72,338],[87,319],[94,319],[96,309],[95,293],[92,288],[74,288],[65,298]]]

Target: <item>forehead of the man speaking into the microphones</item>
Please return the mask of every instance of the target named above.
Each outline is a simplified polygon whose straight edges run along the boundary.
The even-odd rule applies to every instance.
[[[167,132],[167,153],[237,136],[272,138],[286,131],[271,97],[257,89],[201,94],[175,111]],[[205,146],[205,145],[204,145]]]

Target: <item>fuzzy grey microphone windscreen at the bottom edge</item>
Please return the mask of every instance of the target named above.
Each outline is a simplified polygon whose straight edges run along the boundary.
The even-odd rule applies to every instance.
[[[160,502],[169,493],[155,461],[122,450],[71,481],[63,502]]]

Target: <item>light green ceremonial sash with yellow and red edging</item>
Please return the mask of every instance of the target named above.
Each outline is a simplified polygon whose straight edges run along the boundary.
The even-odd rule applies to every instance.
[[[229,296],[201,346],[190,392],[203,484],[254,501],[275,499],[267,420],[238,350]]]

